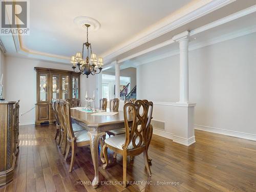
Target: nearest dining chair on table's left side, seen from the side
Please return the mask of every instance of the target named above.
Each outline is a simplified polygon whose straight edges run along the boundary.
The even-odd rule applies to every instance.
[[[72,171],[75,161],[76,148],[81,146],[90,145],[90,138],[87,130],[73,131],[73,124],[71,122],[70,108],[71,105],[69,102],[65,101],[62,104],[62,114],[63,114],[63,124],[67,130],[67,149],[64,160],[66,161],[69,155],[71,147],[71,161],[69,172]]]

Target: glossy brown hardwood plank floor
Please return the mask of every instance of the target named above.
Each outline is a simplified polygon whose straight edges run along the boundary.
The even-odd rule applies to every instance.
[[[128,160],[126,189],[102,184],[93,189],[94,177],[89,147],[77,151],[74,170],[56,142],[54,125],[20,126],[20,147],[14,180],[2,191],[256,191],[256,142],[196,131],[197,142],[189,147],[154,136],[149,149],[152,176],[146,174],[143,155]],[[100,181],[122,180],[122,157],[112,158]],[[82,181],[82,182],[80,182]],[[145,183],[147,181],[147,183]],[[159,182],[162,182],[159,184]],[[165,182],[165,183],[163,183]],[[169,182],[169,183],[166,183]],[[173,183],[172,183],[173,182]]]

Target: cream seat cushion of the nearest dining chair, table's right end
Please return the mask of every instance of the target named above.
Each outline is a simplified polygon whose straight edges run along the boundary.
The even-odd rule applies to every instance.
[[[124,144],[124,142],[125,142],[125,134],[120,134],[120,135],[109,137],[109,138],[105,139],[106,144],[111,145],[115,148],[119,148],[119,150],[122,150],[122,145]],[[136,144],[138,144],[138,143],[139,143],[139,138],[136,139]],[[133,148],[134,147],[131,142],[129,144],[129,146],[127,147],[127,150],[132,150]]]

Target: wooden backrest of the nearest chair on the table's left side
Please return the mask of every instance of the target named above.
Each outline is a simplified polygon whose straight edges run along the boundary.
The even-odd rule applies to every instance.
[[[67,101],[62,103],[62,114],[63,114],[63,125],[67,131],[67,138],[69,140],[75,140],[75,135],[71,122],[71,113],[70,113],[71,104]]]

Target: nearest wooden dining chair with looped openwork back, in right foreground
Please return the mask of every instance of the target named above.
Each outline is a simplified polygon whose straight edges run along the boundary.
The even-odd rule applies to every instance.
[[[133,113],[129,113],[129,108],[133,109]],[[147,100],[136,100],[135,103],[127,102],[123,107],[124,112],[124,125],[125,134],[109,137],[105,139],[103,145],[103,155],[105,169],[109,164],[108,148],[117,154],[123,156],[123,186],[126,187],[126,164],[127,156],[137,156],[143,153],[144,163],[147,169],[148,175],[151,174],[150,165],[148,163],[148,146],[153,133],[153,126],[151,123],[153,103]],[[131,121],[129,125],[129,121]],[[138,126],[140,125],[140,126]],[[130,131],[131,129],[131,131]]]

